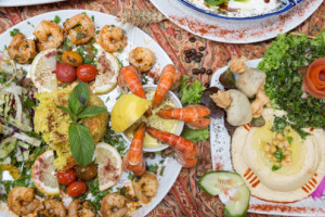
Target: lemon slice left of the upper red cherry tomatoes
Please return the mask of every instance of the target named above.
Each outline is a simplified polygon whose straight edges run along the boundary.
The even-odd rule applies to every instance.
[[[49,49],[37,54],[30,66],[30,78],[39,92],[52,92],[57,88],[56,49]]]

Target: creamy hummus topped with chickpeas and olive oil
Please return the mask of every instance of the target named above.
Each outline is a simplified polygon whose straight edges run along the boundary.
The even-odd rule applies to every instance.
[[[283,111],[265,108],[262,114],[266,120],[264,126],[240,126],[232,138],[234,169],[243,177],[251,194],[265,201],[302,200],[317,188],[325,175],[324,130],[309,130],[311,135],[301,139],[292,128],[286,127],[280,145],[274,141],[277,133],[271,129],[274,115],[284,114]],[[278,146],[275,145],[270,155],[268,145],[275,142]],[[283,155],[285,152],[287,156]]]

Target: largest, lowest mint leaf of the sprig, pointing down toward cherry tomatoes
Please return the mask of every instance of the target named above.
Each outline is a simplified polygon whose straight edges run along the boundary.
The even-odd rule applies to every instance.
[[[77,163],[82,166],[90,164],[94,154],[94,142],[88,127],[72,124],[68,130],[68,141]]]

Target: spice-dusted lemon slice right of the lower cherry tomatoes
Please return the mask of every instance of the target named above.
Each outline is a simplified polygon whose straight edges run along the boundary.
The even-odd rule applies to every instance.
[[[105,191],[117,183],[122,161],[117,150],[105,142],[96,144],[95,156],[99,164],[100,191]]]

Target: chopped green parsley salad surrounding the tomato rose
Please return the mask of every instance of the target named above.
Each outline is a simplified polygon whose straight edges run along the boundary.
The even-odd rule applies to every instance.
[[[325,31],[313,39],[306,35],[278,35],[258,68],[266,73],[265,93],[273,106],[286,111],[289,125],[303,138],[302,128],[325,128],[325,102],[303,93],[306,68],[325,56]]]

